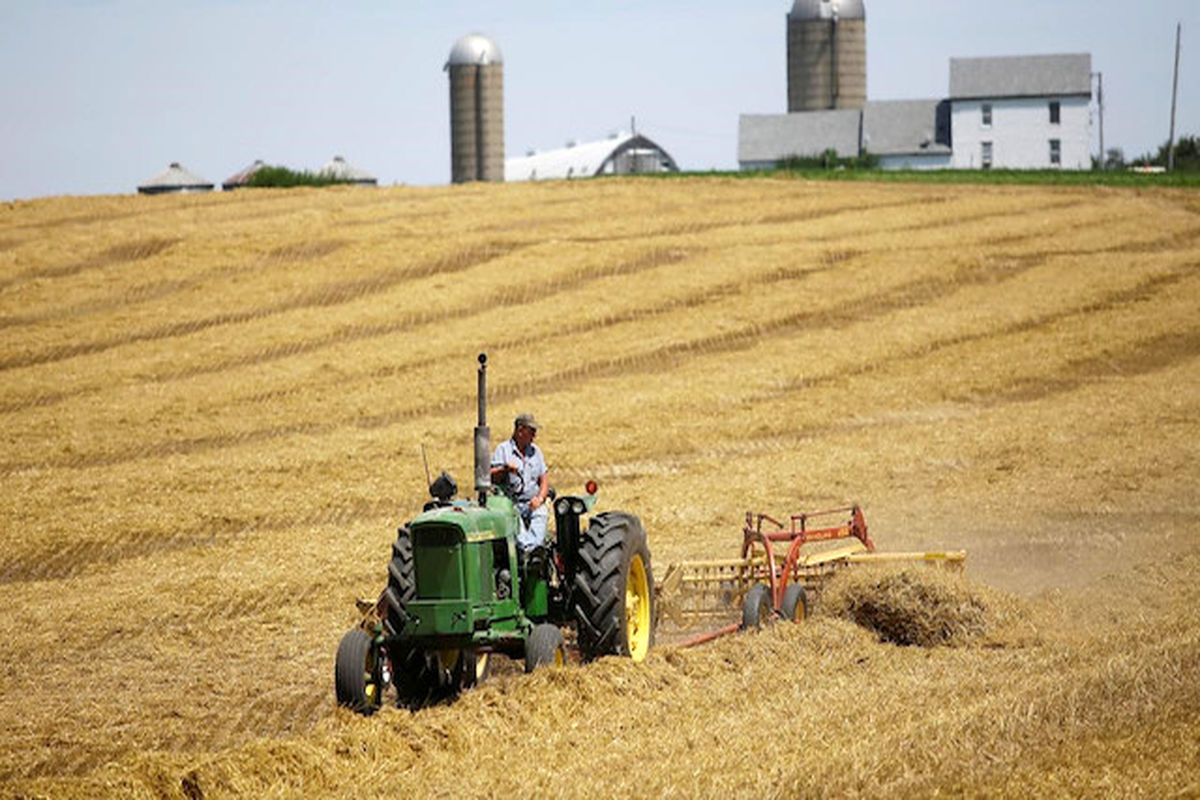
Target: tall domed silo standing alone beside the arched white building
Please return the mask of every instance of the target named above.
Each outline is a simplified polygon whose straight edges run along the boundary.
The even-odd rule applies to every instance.
[[[454,43],[450,73],[450,180],[504,180],[504,59],[479,34]]]

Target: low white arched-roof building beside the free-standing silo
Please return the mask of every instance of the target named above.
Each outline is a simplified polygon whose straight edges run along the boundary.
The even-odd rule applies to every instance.
[[[614,133],[600,142],[568,143],[565,148],[530,151],[504,162],[504,180],[539,181],[595,175],[677,173],[666,150],[640,133]]]

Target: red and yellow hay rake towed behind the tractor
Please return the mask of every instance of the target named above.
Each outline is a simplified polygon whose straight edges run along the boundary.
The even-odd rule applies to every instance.
[[[655,589],[658,618],[685,637],[678,646],[691,646],[758,627],[773,615],[802,620],[809,599],[853,565],[908,561],[961,570],[965,560],[962,551],[877,553],[857,505],[794,513],[787,522],[748,511],[739,558],[667,567]],[[728,621],[739,610],[740,619]]]

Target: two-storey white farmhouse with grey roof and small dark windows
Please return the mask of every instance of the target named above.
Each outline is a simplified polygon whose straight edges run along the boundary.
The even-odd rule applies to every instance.
[[[1088,169],[1092,56],[950,59],[956,169]]]

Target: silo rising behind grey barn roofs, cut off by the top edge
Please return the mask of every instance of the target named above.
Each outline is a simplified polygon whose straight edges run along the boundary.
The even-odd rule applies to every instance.
[[[787,14],[788,113],[865,103],[863,0],[796,0]]]

